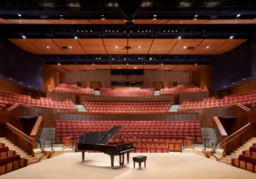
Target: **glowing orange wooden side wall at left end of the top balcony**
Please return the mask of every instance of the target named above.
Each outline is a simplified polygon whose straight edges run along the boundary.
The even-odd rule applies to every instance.
[[[62,83],[62,72],[56,70],[54,67],[45,65],[45,63],[43,65],[43,68],[43,92],[47,90],[48,85],[51,85],[52,88]],[[75,83],[77,83],[77,81],[75,81]]]

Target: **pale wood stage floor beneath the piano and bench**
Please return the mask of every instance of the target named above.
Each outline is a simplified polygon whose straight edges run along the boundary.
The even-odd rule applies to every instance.
[[[133,169],[132,157],[146,155],[141,170]],[[126,158],[126,157],[125,157]],[[119,159],[119,157],[118,157]],[[111,168],[110,156],[104,153],[63,153],[51,159],[0,176],[4,179],[80,179],[80,178],[189,178],[189,179],[255,179],[256,174],[207,159],[194,153],[130,153],[130,163],[119,166],[115,158]]]

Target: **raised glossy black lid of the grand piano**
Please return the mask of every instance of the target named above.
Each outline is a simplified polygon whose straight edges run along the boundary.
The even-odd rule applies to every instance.
[[[121,128],[122,126],[113,126],[109,131],[88,132],[79,137],[77,143],[107,145]]]

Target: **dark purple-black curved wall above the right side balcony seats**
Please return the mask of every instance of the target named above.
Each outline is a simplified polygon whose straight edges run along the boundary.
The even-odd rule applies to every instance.
[[[212,56],[212,90],[252,76],[252,46],[249,39],[225,54]]]

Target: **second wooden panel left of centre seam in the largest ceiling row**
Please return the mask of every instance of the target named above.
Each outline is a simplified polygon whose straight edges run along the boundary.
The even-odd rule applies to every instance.
[[[102,39],[78,39],[88,54],[107,54]]]

